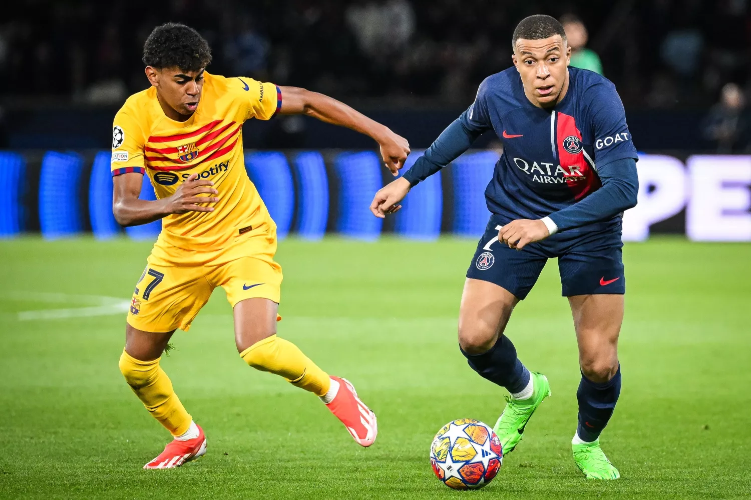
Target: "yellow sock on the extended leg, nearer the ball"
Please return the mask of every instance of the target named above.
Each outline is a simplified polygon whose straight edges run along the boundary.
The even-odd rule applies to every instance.
[[[282,376],[292,385],[323,396],[329,390],[331,379],[324,370],[310,361],[300,349],[276,335],[267,337],[240,353],[247,364],[256,370]]]

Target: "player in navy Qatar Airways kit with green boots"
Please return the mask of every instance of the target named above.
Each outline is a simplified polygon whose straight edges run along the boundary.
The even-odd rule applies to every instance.
[[[385,217],[409,190],[438,172],[481,133],[503,141],[485,197],[491,212],[466,274],[459,346],[480,376],[511,397],[495,426],[503,453],[514,450],[545,397],[547,378],[517,358],[504,329],[547,259],[558,258],[579,347],[581,383],[574,460],[590,479],[617,479],[599,436],[620,394],[617,344],[623,322],[621,217],[636,205],[636,149],[615,86],[569,67],[566,33],[550,16],[529,16],[511,40],[514,67],[488,76],[472,106],[403,177],[375,194]]]

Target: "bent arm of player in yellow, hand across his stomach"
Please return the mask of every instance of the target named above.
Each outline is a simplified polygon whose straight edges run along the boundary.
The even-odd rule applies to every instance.
[[[212,212],[213,207],[198,205],[199,203],[216,203],[218,191],[214,189],[212,181],[198,178],[192,173],[185,182],[179,185],[172,196],[149,201],[139,199],[143,174],[130,172],[113,178],[112,211],[120,226],[140,226],[169,214],[185,214],[185,212]],[[204,195],[204,196],[199,196]]]

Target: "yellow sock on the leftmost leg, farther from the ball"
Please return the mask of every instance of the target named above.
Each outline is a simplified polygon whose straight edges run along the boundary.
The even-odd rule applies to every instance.
[[[167,373],[159,367],[159,359],[138,361],[123,351],[120,371],[143,406],[173,436],[188,430],[193,418],[177,398]]]

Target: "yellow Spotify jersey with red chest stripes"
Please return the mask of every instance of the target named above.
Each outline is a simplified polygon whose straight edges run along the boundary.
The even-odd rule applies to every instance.
[[[279,87],[245,77],[204,73],[198,109],[188,121],[164,115],[150,87],[128,97],[115,115],[113,176],[149,175],[157,198],[172,195],[193,172],[214,182],[213,212],[189,211],[162,219],[157,246],[218,250],[246,232],[276,234],[276,224],[252,184],[243,159],[243,122],[268,120],[282,106]],[[205,195],[214,196],[214,195]]]

